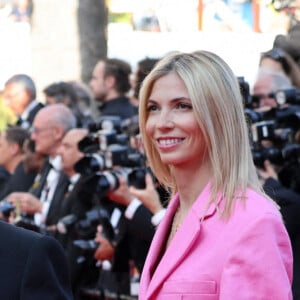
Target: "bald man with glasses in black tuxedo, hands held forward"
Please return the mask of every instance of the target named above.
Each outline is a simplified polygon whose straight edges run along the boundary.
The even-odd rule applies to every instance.
[[[35,152],[47,156],[41,172],[26,193],[11,193],[8,201],[20,207],[34,219],[34,224],[47,229],[55,224],[56,212],[60,207],[69,180],[60,170],[57,150],[66,132],[74,128],[76,120],[71,110],[64,104],[44,107],[36,115],[31,128],[31,139],[35,143]]]

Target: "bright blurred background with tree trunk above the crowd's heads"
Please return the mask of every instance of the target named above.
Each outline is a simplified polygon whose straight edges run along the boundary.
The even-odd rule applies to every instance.
[[[299,0],[0,0],[0,85],[27,73],[88,82],[102,57],[212,50],[252,82],[259,55],[299,20]]]

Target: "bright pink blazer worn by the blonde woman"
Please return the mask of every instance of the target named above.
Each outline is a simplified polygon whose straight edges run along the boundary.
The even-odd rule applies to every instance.
[[[211,205],[201,223],[209,195],[208,184],[163,253],[178,195],[171,200],[144,265],[139,299],[292,299],[292,250],[277,207],[248,190],[229,220]]]

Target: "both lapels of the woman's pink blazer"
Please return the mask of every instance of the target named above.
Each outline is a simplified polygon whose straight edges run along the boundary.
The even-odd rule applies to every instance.
[[[201,231],[201,220],[212,216],[216,212],[216,205],[211,204],[207,207],[207,201],[210,195],[210,184],[208,183],[202,193],[199,195],[190,212],[180,226],[168,249],[163,253],[165,241],[167,239],[172,218],[179,205],[178,195],[170,202],[168,210],[161,224],[159,225],[156,235],[152,241],[147,258],[146,270],[148,273],[143,274],[147,289],[147,299],[150,299],[153,293],[163,284],[166,278],[188,255],[191,247],[199,237]],[[219,202],[219,199],[217,203]],[[160,253],[163,253],[160,256]],[[159,258],[161,257],[160,261]]]

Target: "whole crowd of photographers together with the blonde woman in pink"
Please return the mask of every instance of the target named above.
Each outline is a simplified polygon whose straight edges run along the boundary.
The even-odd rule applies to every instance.
[[[200,50],[101,59],[40,100],[8,78],[0,251],[32,261],[7,299],[300,299],[299,74],[274,44],[251,87]]]

